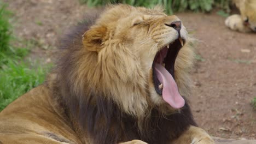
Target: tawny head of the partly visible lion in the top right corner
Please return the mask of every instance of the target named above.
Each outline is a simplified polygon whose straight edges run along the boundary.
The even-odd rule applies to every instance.
[[[235,0],[240,9],[243,24],[256,32],[256,1],[255,0]]]

